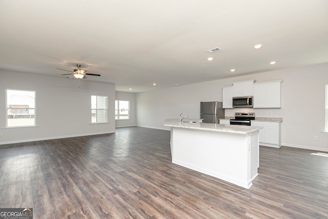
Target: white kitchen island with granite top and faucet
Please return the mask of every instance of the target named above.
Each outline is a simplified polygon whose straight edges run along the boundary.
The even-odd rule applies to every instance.
[[[172,163],[250,188],[258,175],[261,127],[201,123],[177,118],[171,127]]]

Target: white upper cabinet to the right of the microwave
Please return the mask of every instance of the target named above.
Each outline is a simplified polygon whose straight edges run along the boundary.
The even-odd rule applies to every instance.
[[[253,108],[281,108],[282,81],[253,85]]]

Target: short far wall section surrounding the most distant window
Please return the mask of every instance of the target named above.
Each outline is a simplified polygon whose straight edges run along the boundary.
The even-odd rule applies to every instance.
[[[135,109],[135,93],[128,92],[115,92],[116,99],[119,101],[130,101],[130,119],[129,120],[116,120],[116,128],[136,126],[136,109]]]

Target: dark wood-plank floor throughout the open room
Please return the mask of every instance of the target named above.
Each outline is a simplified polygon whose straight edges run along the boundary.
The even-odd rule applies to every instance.
[[[328,218],[328,157],[317,152],[261,146],[244,189],[172,164],[165,130],[3,145],[0,207],[34,218]]]

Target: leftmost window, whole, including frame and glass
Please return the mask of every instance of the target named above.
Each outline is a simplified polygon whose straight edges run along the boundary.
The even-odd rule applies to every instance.
[[[6,128],[35,126],[35,91],[6,89]]]

